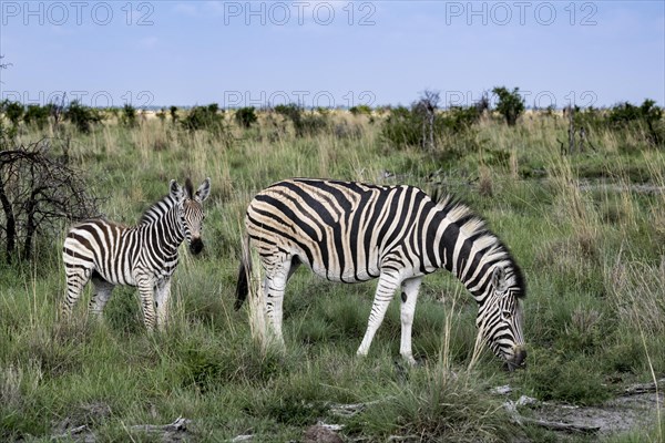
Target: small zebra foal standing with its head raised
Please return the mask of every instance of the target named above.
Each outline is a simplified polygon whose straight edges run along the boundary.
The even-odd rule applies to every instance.
[[[196,193],[188,178],[184,188],[171,181],[168,189],[168,195],[147,209],[134,227],[93,219],[69,230],[62,249],[66,276],[66,297],[62,303],[65,317],[92,279],[92,313],[98,317],[102,313],[116,285],[136,286],[145,327],[152,330],[155,326],[155,305],[156,323],[164,327],[177,249],[184,239],[192,254],[203,249],[202,203],[209,194],[211,179],[206,178]]]

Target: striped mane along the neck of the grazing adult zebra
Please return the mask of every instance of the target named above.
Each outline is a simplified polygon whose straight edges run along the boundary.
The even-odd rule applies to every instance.
[[[487,249],[488,255],[495,256],[497,264],[505,264],[510,268],[510,275],[514,285],[519,288],[515,293],[518,298],[526,297],[526,284],[522,269],[515,262],[508,246],[492,233],[485,225],[485,222],[471,210],[469,206],[461,203],[451,195],[439,196],[434,193],[433,199],[444,214],[446,218],[458,226],[460,231],[467,237],[475,237],[474,243],[479,249]]]

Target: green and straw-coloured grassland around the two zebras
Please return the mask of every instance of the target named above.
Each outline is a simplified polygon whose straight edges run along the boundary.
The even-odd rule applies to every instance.
[[[38,243],[35,261],[0,265],[0,440],[163,441],[136,425],[182,416],[192,422],[180,437],[202,442],[303,441],[318,421],[344,425],[349,442],[557,441],[514,423],[492,388],[510,384],[510,400],[602,405],[665,377],[665,155],[640,134],[598,131],[595,151],[562,156],[566,123],[528,114],[515,127],[484,120],[423,152],[381,138],[380,115],[329,114],[327,131],[305,137],[279,116],[249,130],[226,119],[231,136],[156,119],[131,128],[108,121],[91,134],[21,130],[20,143],[70,140],[70,159],[110,219],[135,223],[171,178],[209,176],[212,194],[203,257],[183,248],[163,333],[145,333],[132,288],[115,290],[103,323],[88,319],[86,300],[75,321],[58,320],[65,226]],[[358,359],[374,284],[334,285],[306,270],[287,289],[286,352],[262,350],[247,311],[233,310],[241,226],[254,193],[290,176],[439,186],[467,202],[525,271],[529,368],[507,373],[489,351],[474,356],[474,302],[443,272],[421,289],[418,368],[398,358],[397,303]],[[362,406],[339,414],[348,404]],[[663,441],[664,415],[601,437]]]

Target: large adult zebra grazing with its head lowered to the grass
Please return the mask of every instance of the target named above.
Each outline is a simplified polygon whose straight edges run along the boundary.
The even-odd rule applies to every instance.
[[[276,183],[249,203],[246,247],[256,248],[265,269],[263,296],[277,340],[286,282],[298,265],[331,281],[378,278],[365,356],[401,287],[400,353],[415,363],[411,327],[422,277],[451,271],[478,302],[477,326],[510,370],[525,364],[522,272],[503,244],[471,210],[450,197],[441,202],[412,186],[294,178]],[[250,255],[242,264],[236,309],[248,292]]]

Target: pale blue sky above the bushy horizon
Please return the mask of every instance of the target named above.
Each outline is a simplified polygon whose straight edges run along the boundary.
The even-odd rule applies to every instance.
[[[1,99],[665,105],[663,1],[0,1]]]

